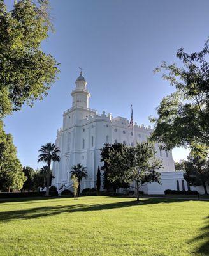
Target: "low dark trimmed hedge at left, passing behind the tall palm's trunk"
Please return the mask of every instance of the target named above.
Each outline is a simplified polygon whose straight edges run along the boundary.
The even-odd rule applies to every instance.
[[[36,197],[45,196],[45,192],[1,192],[0,198],[22,198],[22,197]],[[50,196],[58,196],[57,191],[50,191]]]

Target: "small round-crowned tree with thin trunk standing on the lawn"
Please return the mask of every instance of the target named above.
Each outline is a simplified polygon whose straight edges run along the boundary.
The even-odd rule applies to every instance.
[[[137,143],[136,147],[125,146],[121,152],[110,151],[110,157],[106,161],[112,172],[108,173],[108,179],[132,183],[131,187],[136,189],[138,201],[141,186],[151,182],[160,183],[161,174],[156,170],[162,165],[155,153],[154,145],[148,142]]]

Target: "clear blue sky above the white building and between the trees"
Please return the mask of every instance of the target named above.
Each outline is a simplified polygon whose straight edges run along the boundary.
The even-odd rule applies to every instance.
[[[13,0],[6,0],[11,8]],[[55,141],[62,113],[71,108],[71,90],[78,67],[92,95],[90,108],[150,125],[148,116],[162,97],[173,92],[153,69],[162,60],[177,62],[177,49],[198,51],[209,35],[209,1],[201,0],[51,0],[56,32],[43,42],[43,50],[61,63],[59,80],[48,96],[33,108],[4,119],[13,134],[24,166],[37,164],[38,149]],[[175,160],[187,150],[173,150]]]

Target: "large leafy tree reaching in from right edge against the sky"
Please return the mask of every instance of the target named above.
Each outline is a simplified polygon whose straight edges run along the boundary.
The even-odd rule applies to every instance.
[[[179,49],[183,67],[162,62],[155,72],[167,70],[162,77],[176,91],[162,99],[151,139],[162,149],[190,147],[209,156],[209,39],[200,52],[188,54]]]

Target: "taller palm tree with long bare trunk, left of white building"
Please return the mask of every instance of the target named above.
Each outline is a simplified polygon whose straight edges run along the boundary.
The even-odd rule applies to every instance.
[[[45,162],[47,163],[47,190],[46,190],[46,196],[49,196],[49,186],[50,186],[50,166],[52,161],[53,162],[59,162],[60,157],[58,156],[60,150],[54,143],[46,143],[46,145],[41,146],[41,149],[38,150],[38,152],[41,152],[40,155],[38,155],[38,163]]]

